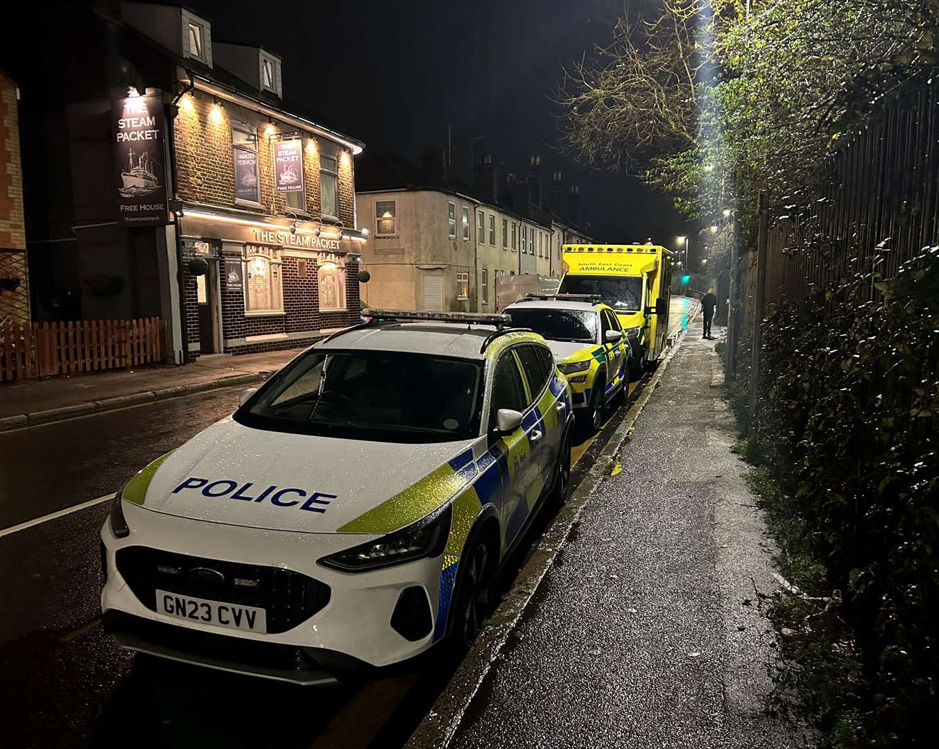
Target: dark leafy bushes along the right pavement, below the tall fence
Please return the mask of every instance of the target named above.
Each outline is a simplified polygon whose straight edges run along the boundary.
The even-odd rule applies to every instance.
[[[866,301],[873,286],[881,301]],[[804,613],[813,635],[783,680],[832,745],[925,746],[939,708],[939,248],[889,283],[858,276],[783,305],[764,330],[751,486],[793,582],[838,604]],[[835,643],[844,662],[820,660]]]

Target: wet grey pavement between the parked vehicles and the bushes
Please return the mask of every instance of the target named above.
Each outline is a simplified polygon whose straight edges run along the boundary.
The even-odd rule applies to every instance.
[[[696,333],[463,706],[452,741],[435,742],[422,726],[411,745],[804,745],[764,713],[777,643],[762,596],[777,589],[776,549],[747,467],[730,451],[736,427],[714,342]]]

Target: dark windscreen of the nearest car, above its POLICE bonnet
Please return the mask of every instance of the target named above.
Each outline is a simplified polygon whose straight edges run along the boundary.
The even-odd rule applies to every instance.
[[[479,435],[481,388],[481,362],[310,351],[239,408],[235,420],[277,432],[447,442]]]

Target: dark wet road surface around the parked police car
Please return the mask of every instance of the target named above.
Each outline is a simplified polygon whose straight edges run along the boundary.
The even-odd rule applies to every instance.
[[[683,304],[673,305],[674,324]],[[103,633],[99,531],[108,502],[69,509],[112,495],[141,466],[231,413],[238,395],[217,390],[0,434],[0,528],[68,512],[0,530],[0,744],[400,745],[432,704],[455,664],[423,665],[358,690],[303,690],[134,659]],[[584,437],[575,460],[595,438]]]

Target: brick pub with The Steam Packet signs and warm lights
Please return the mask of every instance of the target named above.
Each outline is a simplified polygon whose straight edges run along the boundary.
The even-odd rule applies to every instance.
[[[34,319],[159,316],[176,363],[359,320],[363,145],[285,104],[279,55],[172,2],[76,0],[46,31],[14,71],[47,176],[24,183]]]

